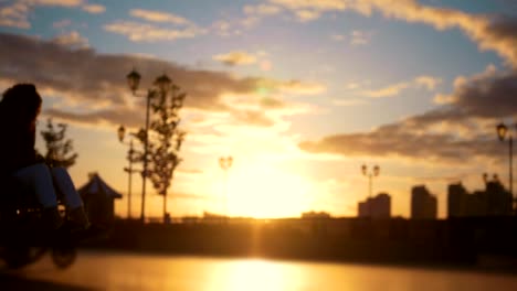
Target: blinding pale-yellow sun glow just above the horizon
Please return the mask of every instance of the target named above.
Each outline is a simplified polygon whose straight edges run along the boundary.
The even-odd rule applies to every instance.
[[[256,218],[299,217],[308,208],[310,183],[273,165],[239,169],[228,176],[228,212]]]

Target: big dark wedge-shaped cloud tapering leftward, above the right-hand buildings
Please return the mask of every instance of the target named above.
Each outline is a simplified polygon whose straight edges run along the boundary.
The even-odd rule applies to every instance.
[[[346,157],[398,157],[420,162],[461,163],[504,154],[495,125],[517,118],[517,72],[461,77],[447,103],[421,115],[368,132],[337,133],[299,147],[312,153]]]

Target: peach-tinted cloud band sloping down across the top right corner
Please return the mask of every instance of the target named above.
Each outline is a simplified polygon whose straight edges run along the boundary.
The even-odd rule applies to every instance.
[[[299,11],[312,11],[313,15],[319,15],[324,12],[351,10],[370,17],[373,11],[378,11],[384,18],[424,23],[436,30],[457,28],[476,42],[481,50],[494,51],[517,67],[517,19],[515,18],[468,14],[455,9],[420,4],[414,0],[268,0],[268,2],[291,10],[295,14],[299,14]]]

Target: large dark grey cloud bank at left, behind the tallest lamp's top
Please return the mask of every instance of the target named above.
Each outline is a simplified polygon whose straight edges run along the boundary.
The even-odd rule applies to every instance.
[[[123,97],[127,95],[125,74],[133,66],[144,76],[167,72],[189,93],[186,106],[203,110],[224,110],[226,106],[219,99],[221,94],[253,91],[258,83],[254,78],[239,79],[225,73],[190,69],[157,58],[105,55],[92,48],[71,50],[54,42],[20,35],[0,33],[0,41],[3,44],[0,46],[3,79],[31,82],[53,96],[78,104],[108,101],[107,107],[114,114],[126,104]],[[149,84],[146,82],[143,86]]]

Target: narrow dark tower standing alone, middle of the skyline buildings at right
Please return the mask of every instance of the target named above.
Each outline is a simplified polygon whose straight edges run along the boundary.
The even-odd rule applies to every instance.
[[[411,218],[436,219],[437,201],[424,185],[411,190]]]

